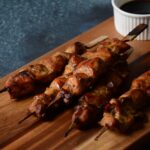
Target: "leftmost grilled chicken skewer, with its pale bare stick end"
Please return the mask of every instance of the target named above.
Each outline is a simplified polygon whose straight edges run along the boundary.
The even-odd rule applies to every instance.
[[[8,78],[0,93],[7,91],[13,99],[29,95],[41,84],[49,83],[60,75],[72,54],[83,54],[87,49],[96,46],[106,38],[106,36],[101,36],[86,45],[76,42],[65,51],[57,52],[49,58],[41,60],[38,64],[28,66],[25,70]]]

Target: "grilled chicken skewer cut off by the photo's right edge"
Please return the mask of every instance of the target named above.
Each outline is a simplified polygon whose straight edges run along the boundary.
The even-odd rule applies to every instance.
[[[131,131],[145,115],[143,109],[149,105],[149,98],[150,70],[134,79],[129,91],[117,99],[110,100],[100,125],[119,132]]]

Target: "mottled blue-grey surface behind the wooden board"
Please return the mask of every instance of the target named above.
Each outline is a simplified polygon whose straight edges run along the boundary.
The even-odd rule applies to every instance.
[[[0,77],[112,15],[110,0],[0,0]]]

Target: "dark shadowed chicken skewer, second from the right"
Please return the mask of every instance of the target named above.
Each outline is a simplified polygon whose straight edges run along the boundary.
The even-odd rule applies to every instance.
[[[119,62],[107,71],[104,80],[80,98],[65,136],[74,128],[86,129],[97,125],[102,118],[104,106],[123,85],[128,73],[126,61]]]

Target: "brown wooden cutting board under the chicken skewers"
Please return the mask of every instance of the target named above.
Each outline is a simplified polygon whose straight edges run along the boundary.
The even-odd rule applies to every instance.
[[[51,55],[54,51],[61,51],[72,45],[75,41],[89,42],[100,35],[109,37],[121,36],[115,31],[113,18],[110,18],[89,31],[80,34],[69,42],[57,47],[53,51],[33,61],[37,62]],[[150,41],[133,41],[130,44],[134,52],[129,58],[131,75],[129,82],[134,77],[150,69]],[[9,74],[12,75],[15,72]],[[8,78],[5,76],[0,80],[0,88]],[[8,93],[0,94],[0,147],[4,149],[126,149],[133,148],[140,143],[141,139],[148,139],[150,136],[150,121],[145,126],[131,135],[120,135],[106,131],[98,141],[94,141],[100,128],[87,131],[74,130],[67,138],[64,138],[64,131],[70,124],[73,110],[67,110],[59,114],[54,120],[48,122],[37,121],[31,117],[22,124],[18,121],[26,114],[27,107],[32,97],[20,101],[12,101]],[[150,113],[148,112],[150,119]]]

